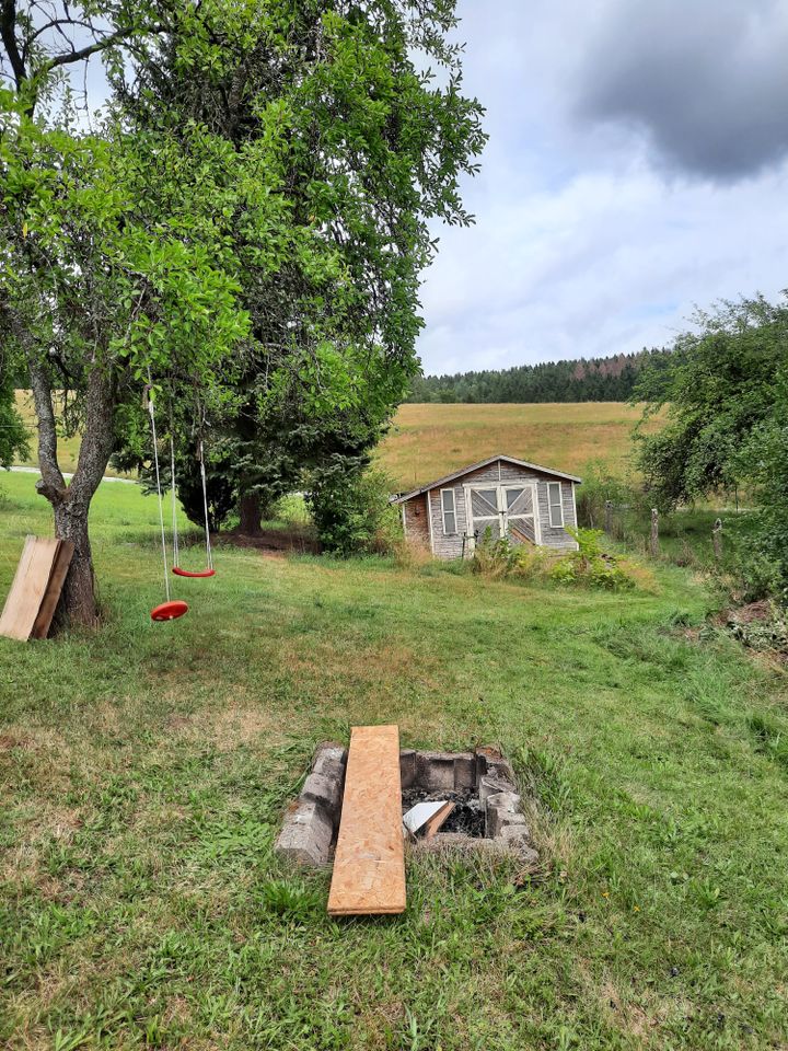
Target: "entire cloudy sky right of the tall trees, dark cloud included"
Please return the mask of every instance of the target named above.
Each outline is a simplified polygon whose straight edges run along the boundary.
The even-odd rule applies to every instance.
[[[788,288],[786,0],[459,0],[476,222],[436,228],[428,374],[670,344]]]

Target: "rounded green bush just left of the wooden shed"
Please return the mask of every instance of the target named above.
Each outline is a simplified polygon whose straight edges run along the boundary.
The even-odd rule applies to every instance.
[[[336,457],[311,476],[306,504],[324,551],[347,557],[391,552],[402,536],[391,480],[363,462]]]

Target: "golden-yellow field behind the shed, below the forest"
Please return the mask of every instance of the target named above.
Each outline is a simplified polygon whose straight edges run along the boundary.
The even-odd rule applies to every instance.
[[[624,402],[403,405],[378,462],[402,488],[498,452],[579,475],[590,462],[604,461],[623,474],[639,418],[640,409]]]

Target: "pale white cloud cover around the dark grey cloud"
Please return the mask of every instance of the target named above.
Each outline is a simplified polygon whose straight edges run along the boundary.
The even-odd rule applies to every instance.
[[[641,131],[575,115],[602,4],[482,7],[460,10],[490,143],[466,184],[476,226],[441,230],[426,276],[426,371],[638,350],[696,303],[788,286],[788,165],[725,185],[667,174]]]

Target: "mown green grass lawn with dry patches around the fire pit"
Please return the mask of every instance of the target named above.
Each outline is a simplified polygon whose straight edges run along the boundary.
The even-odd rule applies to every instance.
[[[0,596],[49,530],[34,481],[0,476]],[[786,678],[698,639],[686,571],[616,596],[220,547],[153,625],[155,523],[105,483],[104,628],[0,639],[1,1046],[788,1047]],[[314,746],[382,720],[499,742],[540,869],[412,858],[405,915],[329,919],[274,838]]]

